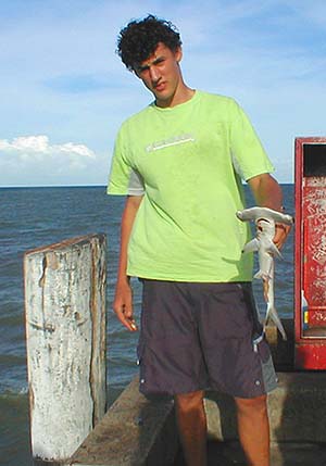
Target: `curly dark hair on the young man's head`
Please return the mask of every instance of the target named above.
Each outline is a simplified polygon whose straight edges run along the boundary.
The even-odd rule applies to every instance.
[[[165,20],[149,14],[143,20],[130,21],[121,29],[117,39],[117,54],[129,71],[154,53],[159,42],[163,42],[172,51],[181,46],[177,28]]]

